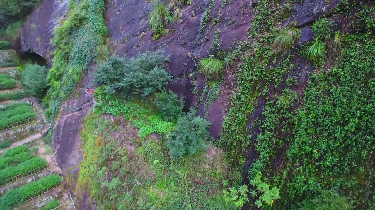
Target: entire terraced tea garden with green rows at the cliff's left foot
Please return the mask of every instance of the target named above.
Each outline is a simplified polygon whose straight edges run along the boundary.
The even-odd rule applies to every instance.
[[[43,142],[42,112],[21,89],[17,68],[0,68],[0,210],[74,209],[52,148]]]

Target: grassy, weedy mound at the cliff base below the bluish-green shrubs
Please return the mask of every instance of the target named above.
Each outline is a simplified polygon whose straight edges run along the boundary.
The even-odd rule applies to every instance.
[[[84,119],[80,132],[86,145],[77,191],[88,185],[102,209],[234,209],[222,195],[220,151],[210,147],[207,155],[199,151],[174,162],[166,136],[175,122],[163,121],[156,106],[104,98],[98,90],[95,97],[96,114]],[[102,120],[101,112],[118,117]]]

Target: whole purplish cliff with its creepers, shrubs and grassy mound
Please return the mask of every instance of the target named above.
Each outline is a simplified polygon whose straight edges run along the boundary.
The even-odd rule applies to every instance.
[[[373,1],[0,8],[77,208],[374,209]]]

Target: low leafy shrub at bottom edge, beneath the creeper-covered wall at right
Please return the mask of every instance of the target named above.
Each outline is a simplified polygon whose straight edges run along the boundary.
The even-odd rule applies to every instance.
[[[332,190],[325,190],[311,201],[303,201],[300,210],[351,210],[348,199]]]

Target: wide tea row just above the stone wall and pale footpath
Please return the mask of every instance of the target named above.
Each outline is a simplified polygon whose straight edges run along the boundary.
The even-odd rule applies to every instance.
[[[1,111],[0,109],[0,118],[2,119],[0,121],[0,130],[6,129],[7,126],[13,123],[24,122],[35,116],[36,114],[30,104],[17,103],[13,109],[6,109],[6,111]]]

